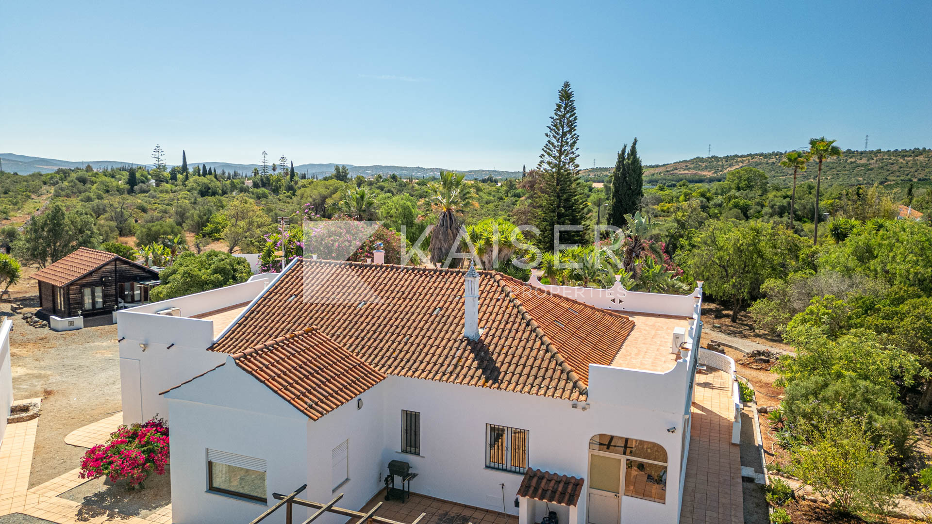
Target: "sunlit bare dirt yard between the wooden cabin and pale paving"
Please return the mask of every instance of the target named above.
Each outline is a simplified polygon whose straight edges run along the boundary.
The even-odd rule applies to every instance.
[[[38,307],[35,296],[12,295],[12,303],[26,311]],[[43,398],[29,478],[33,488],[78,466],[85,449],[65,444],[66,434],[121,409],[117,325],[56,333],[23,322],[10,302],[0,304],[0,316],[13,319],[13,398]]]

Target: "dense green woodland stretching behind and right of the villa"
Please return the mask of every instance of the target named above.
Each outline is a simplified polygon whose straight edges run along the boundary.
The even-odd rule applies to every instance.
[[[822,137],[800,152],[651,167],[634,139],[609,172],[582,172],[569,83],[544,138],[516,180],[351,177],[344,166],[306,179],[283,157],[235,177],[186,160],[166,170],[158,147],[151,170],[0,172],[3,218],[45,206],[0,241],[37,267],[82,245],[165,267],[155,298],[242,282],[249,268],[232,253],[260,253],[278,270],[280,256],[334,236],[324,225],[352,228],[346,219],[382,224],[356,261],[382,242],[389,263],[416,247],[409,263],[448,265],[454,254],[453,264],[472,258],[524,280],[534,267],[547,283],[686,293],[701,280],[733,320],[748,311],[796,349],[776,368],[786,398],[768,417],[788,459],[774,469],[843,512],[883,514],[903,490],[928,494],[932,470],[917,480],[907,464],[932,406],[932,228],[898,218],[900,205],[932,213],[928,150],[858,152]],[[292,224],[283,235],[282,216]],[[578,227],[559,233],[578,245],[556,250],[555,225]],[[0,283],[19,275],[15,262],[0,257]]]

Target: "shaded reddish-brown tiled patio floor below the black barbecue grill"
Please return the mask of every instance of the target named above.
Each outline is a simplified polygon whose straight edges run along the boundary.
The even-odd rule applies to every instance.
[[[518,517],[506,515],[497,511],[490,511],[469,505],[451,503],[412,493],[406,503],[399,501],[386,501],[385,491],[379,491],[375,497],[363,506],[361,512],[367,512],[382,503],[376,515],[391,518],[399,522],[414,522],[421,513],[427,517],[421,520],[422,524],[517,524]]]

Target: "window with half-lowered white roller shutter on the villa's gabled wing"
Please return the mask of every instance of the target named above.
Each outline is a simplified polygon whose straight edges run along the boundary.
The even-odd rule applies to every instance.
[[[208,449],[207,487],[216,493],[267,503],[266,461]]]

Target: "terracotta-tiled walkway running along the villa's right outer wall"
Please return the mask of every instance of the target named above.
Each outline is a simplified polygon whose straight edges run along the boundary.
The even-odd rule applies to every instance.
[[[740,447],[732,444],[730,373],[697,373],[680,524],[742,524]]]

